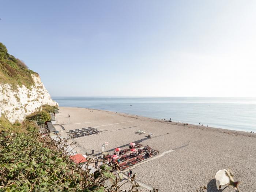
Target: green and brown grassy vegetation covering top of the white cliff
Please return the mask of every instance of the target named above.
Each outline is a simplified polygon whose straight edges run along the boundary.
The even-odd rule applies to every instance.
[[[25,85],[27,88],[34,86],[31,74],[38,75],[28,69],[27,65],[7,52],[7,48],[0,42],[0,84],[9,83],[12,89]]]

